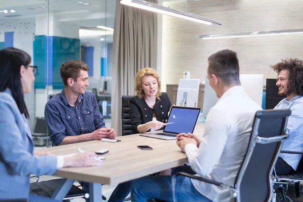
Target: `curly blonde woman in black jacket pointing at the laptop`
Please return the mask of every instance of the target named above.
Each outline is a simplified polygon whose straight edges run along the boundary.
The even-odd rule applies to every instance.
[[[160,89],[161,81],[156,70],[144,68],[137,73],[137,95],[129,101],[129,115],[134,133],[159,130],[166,125],[172,104],[169,96]]]

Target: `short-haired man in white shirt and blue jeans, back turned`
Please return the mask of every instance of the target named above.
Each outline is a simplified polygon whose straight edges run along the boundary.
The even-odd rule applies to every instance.
[[[188,157],[190,167],[186,170],[233,186],[248,146],[254,116],[262,109],[241,86],[235,52],[219,51],[210,56],[208,62],[208,79],[220,99],[209,111],[202,138],[181,133],[177,136],[177,145]],[[177,201],[233,201],[228,188],[183,176],[177,177],[176,190]],[[132,186],[131,197],[132,201],[153,198],[173,201],[171,176],[138,179]]]

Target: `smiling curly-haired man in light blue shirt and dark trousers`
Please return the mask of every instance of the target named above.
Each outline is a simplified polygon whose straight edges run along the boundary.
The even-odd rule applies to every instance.
[[[289,138],[283,142],[282,150],[303,151],[303,61],[286,58],[282,62],[271,66],[278,73],[276,85],[278,94],[287,97],[275,107],[275,109],[290,109],[291,115],[287,122]],[[275,166],[278,175],[286,175],[294,172],[302,155],[279,155]]]

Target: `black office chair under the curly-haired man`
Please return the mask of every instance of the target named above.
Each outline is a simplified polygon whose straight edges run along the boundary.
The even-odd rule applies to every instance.
[[[280,153],[287,153],[287,154],[296,154],[296,155],[303,155],[303,152],[298,151],[287,151],[287,150],[281,150]],[[273,201],[276,201],[277,199],[277,192],[281,193],[282,201],[286,201],[286,189],[283,187],[283,184],[287,185],[294,185],[295,194],[294,197],[299,196],[299,188],[300,183],[303,181],[303,158],[301,158],[299,165],[294,173],[290,173],[287,175],[277,175],[275,173],[276,181],[275,184],[278,184],[279,187],[274,192],[274,199]]]

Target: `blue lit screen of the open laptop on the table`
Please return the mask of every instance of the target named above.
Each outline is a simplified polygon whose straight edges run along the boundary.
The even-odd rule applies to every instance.
[[[200,111],[200,108],[172,107],[163,132],[193,133]]]

